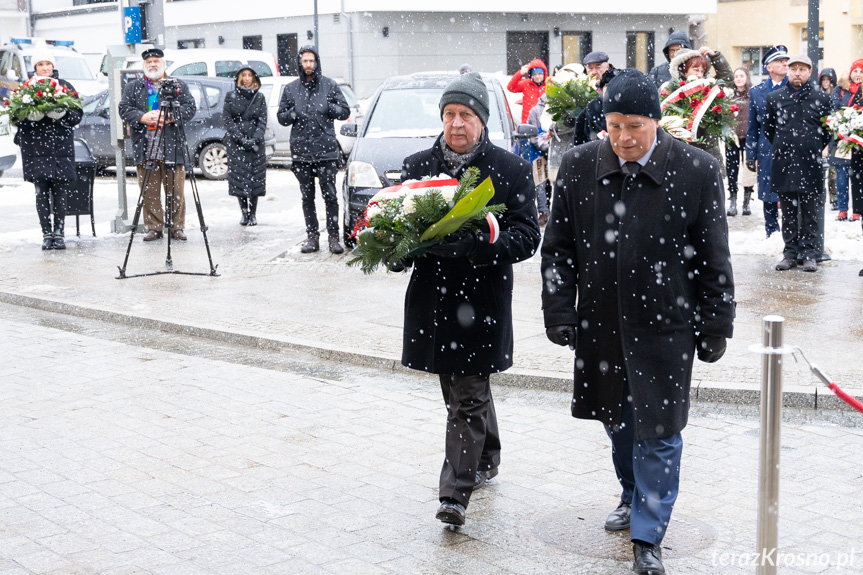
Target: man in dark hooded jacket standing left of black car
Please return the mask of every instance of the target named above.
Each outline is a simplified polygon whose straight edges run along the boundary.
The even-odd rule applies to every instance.
[[[315,210],[315,178],[327,210],[330,251],[344,252],[339,243],[339,200],[336,172],[339,169],[339,143],[333,120],[346,120],[351,109],[338,84],[321,74],[321,61],[314,46],[303,46],[297,54],[302,75],[285,86],[279,102],[278,119],[291,129],[291,171],[300,182],[303,215],[306,220],[304,254],[320,249],[318,213]]]

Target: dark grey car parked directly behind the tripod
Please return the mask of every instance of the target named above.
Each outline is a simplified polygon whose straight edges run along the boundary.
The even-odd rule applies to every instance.
[[[186,143],[192,154],[193,163],[200,168],[204,177],[210,180],[223,180],[228,175],[228,155],[222,140],[225,128],[222,125],[222,109],[225,96],[234,89],[234,82],[228,78],[180,78],[189,86],[195,98],[197,111],[195,117],[185,125]],[[84,118],[75,128],[75,138],[87,144],[96,166],[105,168],[116,163],[111,138],[110,102],[107,90],[84,100]],[[128,134],[128,131],[127,131]],[[267,156],[274,151],[275,136],[267,129],[264,145]],[[132,140],[125,140],[126,161],[132,161]]]

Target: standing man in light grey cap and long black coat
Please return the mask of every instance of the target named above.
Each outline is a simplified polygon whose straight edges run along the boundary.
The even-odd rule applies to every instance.
[[[767,96],[764,135],[773,146],[770,178],[782,205],[785,250],[779,271],[797,267],[818,270],[818,215],[824,212],[824,173],[821,152],[830,133],[821,123],[832,109],[830,96],[809,83],[812,61],[795,56],[788,61],[788,84]],[[823,242],[823,237],[821,238]]]

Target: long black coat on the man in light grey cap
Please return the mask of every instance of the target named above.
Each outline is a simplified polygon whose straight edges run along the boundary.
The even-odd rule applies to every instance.
[[[764,135],[773,145],[771,189],[822,193],[824,174],[821,151],[830,143],[830,132],[821,118],[832,111],[830,95],[805,83],[794,98],[791,84],[767,96]]]

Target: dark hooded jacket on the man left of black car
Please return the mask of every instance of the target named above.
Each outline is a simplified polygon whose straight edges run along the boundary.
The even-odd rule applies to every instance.
[[[311,81],[302,74],[302,52],[315,54],[316,67]],[[321,74],[321,60],[311,46],[297,54],[300,78],[282,91],[276,117],[291,128],[291,158],[297,162],[338,160],[341,155],[333,120],[347,120],[351,109],[339,85]]]

